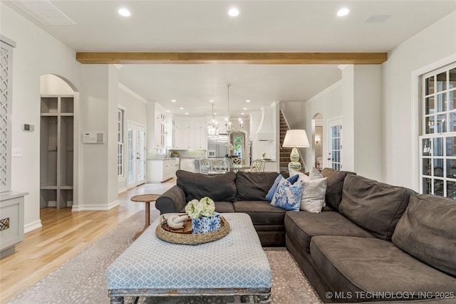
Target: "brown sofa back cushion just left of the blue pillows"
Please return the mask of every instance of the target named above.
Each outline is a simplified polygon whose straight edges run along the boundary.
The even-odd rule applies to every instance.
[[[237,201],[263,201],[279,175],[277,172],[236,173]]]

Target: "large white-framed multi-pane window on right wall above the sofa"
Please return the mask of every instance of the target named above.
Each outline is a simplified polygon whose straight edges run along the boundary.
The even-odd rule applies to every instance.
[[[456,63],[420,81],[420,192],[456,199]]]

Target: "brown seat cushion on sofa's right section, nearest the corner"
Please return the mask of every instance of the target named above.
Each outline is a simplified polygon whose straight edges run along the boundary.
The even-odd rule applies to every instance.
[[[325,211],[319,214],[306,211],[286,212],[285,230],[307,252],[310,252],[311,238],[313,236],[359,236],[375,238],[368,231],[353,224],[345,216],[331,211]]]

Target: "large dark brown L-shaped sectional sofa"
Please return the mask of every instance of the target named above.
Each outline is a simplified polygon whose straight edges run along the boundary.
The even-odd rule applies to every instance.
[[[321,173],[320,213],[270,206],[264,196],[276,172],[177,172],[156,206],[183,211],[189,199],[214,196],[217,211],[249,214],[262,245],[286,245],[326,303],[456,303],[456,201],[353,172]]]

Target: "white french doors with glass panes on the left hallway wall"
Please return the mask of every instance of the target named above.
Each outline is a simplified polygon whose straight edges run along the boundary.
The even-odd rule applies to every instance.
[[[145,127],[128,122],[127,188],[145,183]]]

